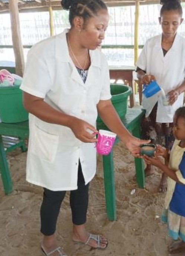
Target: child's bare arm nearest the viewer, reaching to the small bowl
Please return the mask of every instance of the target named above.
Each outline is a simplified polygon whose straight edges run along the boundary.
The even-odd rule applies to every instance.
[[[166,175],[170,178],[172,178],[172,180],[175,180],[176,182],[178,182],[179,184],[185,184],[183,177],[181,177],[181,181],[179,181],[179,174],[180,174],[180,171],[179,170],[173,170],[173,169],[170,169],[168,167],[168,165],[165,165],[163,164],[163,162],[160,160],[159,157],[156,156],[155,154],[155,157],[147,157],[146,155],[144,156],[144,159],[145,159],[145,162],[147,164],[152,164],[152,165],[155,165],[156,167],[160,168],[164,173],[166,173]],[[177,176],[178,174],[178,176]]]

